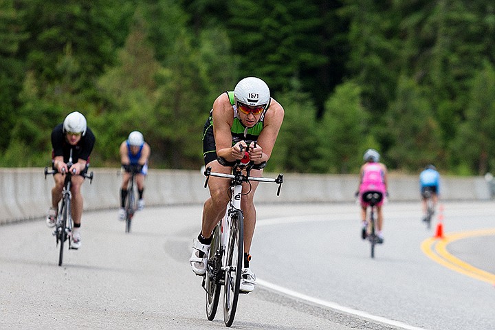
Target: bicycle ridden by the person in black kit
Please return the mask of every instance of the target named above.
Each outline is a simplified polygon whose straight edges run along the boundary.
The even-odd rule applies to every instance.
[[[70,151],[70,156],[69,156],[69,162],[67,162],[67,168],[71,168],[73,165],[72,163],[72,149]],[[48,174],[55,174],[58,173],[57,170],[48,170],[47,167],[45,167],[45,179]],[[58,252],[58,265],[62,265],[63,261],[63,248],[64,248],[64,243],[67,241],[67,238],[70,237],[70,234],[72,233],[72,216],[71,216],[71,199],[72,199],[72,193],[70,191],[71,189],[71,179],[74,173],[71,173],[70,171],[68,173],[65,173],[65,179],[64,179],[64,186],[62,190],[62,200],[60,205],[58,206],[58,214],[56,217],[56,223],[55,223],[55,230],[53,232],[53,235],[55,236],[55,242],[56,245],[59,247],[59,252]],[[89,183],[93,181],[93,172],[87,174],[87,173],[81,173],[80,175],[83,175],[84,177],[89,179]],[[59,245],[60,244],[60,245]],[[69,239],[69,250],[71,249],[71,242]]]

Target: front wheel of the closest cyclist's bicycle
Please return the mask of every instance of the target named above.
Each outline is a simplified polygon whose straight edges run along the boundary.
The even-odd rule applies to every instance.
[[[225,283],[223,285],[223,320],[230,327],[234,322],[244,256],[244,216],[241,210],[232,213],[230,237],[227,245]]]

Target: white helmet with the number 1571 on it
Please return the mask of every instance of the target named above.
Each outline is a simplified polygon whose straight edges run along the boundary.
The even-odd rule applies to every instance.
[[[247,77],[237,83],[234,98],[250,107],[262,105],[266,109],[270,104],[270,89],[260,78]]]

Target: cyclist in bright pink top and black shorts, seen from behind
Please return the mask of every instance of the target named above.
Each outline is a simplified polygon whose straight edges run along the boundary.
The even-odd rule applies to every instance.
[[[375,149],[368,149],[363,156],[364,164],[360,170],[360,187],[359,196],[361,203],[361,219],[362,219],[362,239],[366,239],[366,208],[369,203],[362,199],[364,192],[374,191],[382,194],[382,199],[377,203],[377,243],[383,243],[382,225],[383,212],[382,205],[387,195],[387,168],[380,160],[380,153]]]

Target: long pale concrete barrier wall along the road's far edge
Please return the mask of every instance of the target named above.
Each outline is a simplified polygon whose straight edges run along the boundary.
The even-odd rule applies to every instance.
[[[92,184],[83,184],[85,210],[118,208],[120,170],[92,168]],[[276,174],[265,173],[266,177]],[[149,170],[146,177],[147,206],[201,204],[209,196],[203,188],[201,171]],[[51,175],[44,178],[43,168],[0,168],[0,224],[36,219],[45,216],[50,206]],[[389,201],[419,201],[418,177],[390,175]],[[277,185],[261,183],[256,203],[348,202],[354,200],[358,188],[357,175],[316,175],[289,173],[284,175],[281,196]],[[483,177],[442,177],[443,200],[491,199],[489,184]]]

